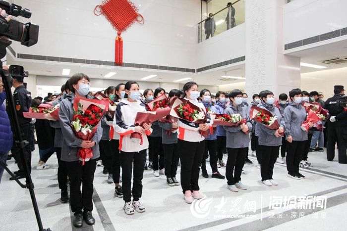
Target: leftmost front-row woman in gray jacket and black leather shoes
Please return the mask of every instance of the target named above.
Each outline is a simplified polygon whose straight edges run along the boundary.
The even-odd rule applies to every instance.
[[[99,158],[99,141],[102,137],[102,127],[98,126],[92,140],[78,139],[71,128],[73,116],[73,102],[75,98],[85,98],[89,92],[89,77],[85,74],[74,74],[69,79],[71,97],[65,98],[60,103],[59,120],[63,142],[61,160],[65,162],[70,180],[70,205],[75,215],[73,225],[83,226],[83,219],[88,225],[93,225],[95,219],[93,210],[93,180],[96,168],[96,159]],[[82,166],[77,156],[78,148],[92,148],[93,157]],[[82,193],[81,193],[82,184]],[[83,209],[83,213],[82,213]]]

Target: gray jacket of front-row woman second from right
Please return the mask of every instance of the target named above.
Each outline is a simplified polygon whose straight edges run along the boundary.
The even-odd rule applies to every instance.
[[[268,105],[266,103],[258,104],[258,107],[263,108],[264,110],[270,111],[273,115],[277,116],[277,121],[280,124],[280,127],[285,128],[285,121],[281,115],[280,110],[274,105]],[[276,137],[276,130],[271,130],[265,126],[259,124],[259,145],[264,146],[281,146],[282,137]]]

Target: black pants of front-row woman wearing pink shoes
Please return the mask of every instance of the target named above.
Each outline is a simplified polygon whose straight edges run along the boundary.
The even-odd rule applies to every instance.
[[[187,190],[198,191],[199,172],[205,141],[189,142],[178,139],[178,153],[181,160],[181,186],[183,194]]]

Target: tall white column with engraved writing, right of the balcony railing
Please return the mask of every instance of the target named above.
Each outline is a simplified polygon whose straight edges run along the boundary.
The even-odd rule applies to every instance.
[[[246,92],[300,87],[300,58],[284,55],[283,8],[287,0],[246,0]]]

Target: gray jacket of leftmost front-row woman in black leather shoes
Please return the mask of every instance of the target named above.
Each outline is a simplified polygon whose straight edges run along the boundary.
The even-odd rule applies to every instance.
[[[79,158],[77,157],[77,150],[81,147],[83,141],[82,139],[77,139],[71,128],[74,98],[75,94],[71,93],[71,98],[65,98],[61,101],[59,109],[61,132],[64,138],[61,148],[61,160],[67,162],[79,160]],[[93,160],[100,157],[99,141],[101,139],[102,133],[102,127],[99,124],[97,132],[92,138],[92,141],[95,142],[95,145],[92,147],[93,157],[91,159]]]

